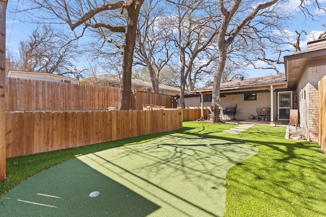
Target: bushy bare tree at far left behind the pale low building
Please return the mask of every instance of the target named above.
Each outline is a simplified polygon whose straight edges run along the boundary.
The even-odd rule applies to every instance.
[[[39,25],[28,40],[19,43],[22,71],[45,72],[58,75],[80,75],[75,67],[77,43],[64,31],[51,25]]]

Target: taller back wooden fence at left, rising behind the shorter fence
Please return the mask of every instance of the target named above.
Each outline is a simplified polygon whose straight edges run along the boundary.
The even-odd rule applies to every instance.
[[[114,87],[6,78],[6,111],[103,110],[119,100]]]

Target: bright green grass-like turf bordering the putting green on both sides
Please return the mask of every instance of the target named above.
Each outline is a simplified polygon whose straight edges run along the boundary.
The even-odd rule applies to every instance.
[[[317,143],[285,140],[285,127],[255,125],[239,134],[223,132],[233,127],[189,121],[183,122],[183,129],[170,133],[7,159],[7,179],[0,183],[0,193],[81,154],[160,136],[188,135],[247,143],[259,149],[228,171],[224,216],[326,216],[326,156]]]

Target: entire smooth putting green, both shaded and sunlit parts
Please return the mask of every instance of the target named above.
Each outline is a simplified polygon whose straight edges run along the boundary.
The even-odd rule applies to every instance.
[[[2,216],[222,216],[225,178],[257,153],[239,142],[168,136],[79,156],[2,197]],[[100,194],[89,197],[93,191]]]

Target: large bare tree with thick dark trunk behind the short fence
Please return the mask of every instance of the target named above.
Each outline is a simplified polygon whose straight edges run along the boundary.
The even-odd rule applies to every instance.
[[[136,30],[140,8],[144,0],[128,0],[116,3],[106,1],[43,1],[29,0],[33,4],[28,10],[34,13],[34,17],[47,22],[53,22],[53,17],[58,19],[57,23],[67,23],[71,30],[83,36],[87,28],[100,29],[102,37],[106,42],[113,43],[123,55],[122,60],[122,87],[120,110],[129,110],[131,69],[133,50],[135,45]],[[118,13],[121,13],[118,16]],[[105,15],[105,16],[104,16]],[[106,19],[104,19],[106,18]],[[124,22],[122,22],[124,19]],[[79,29],[78,27],[83,27]],[[107,39],[109,33],[122,34],[124,41],[118,44],[113,39]]]

